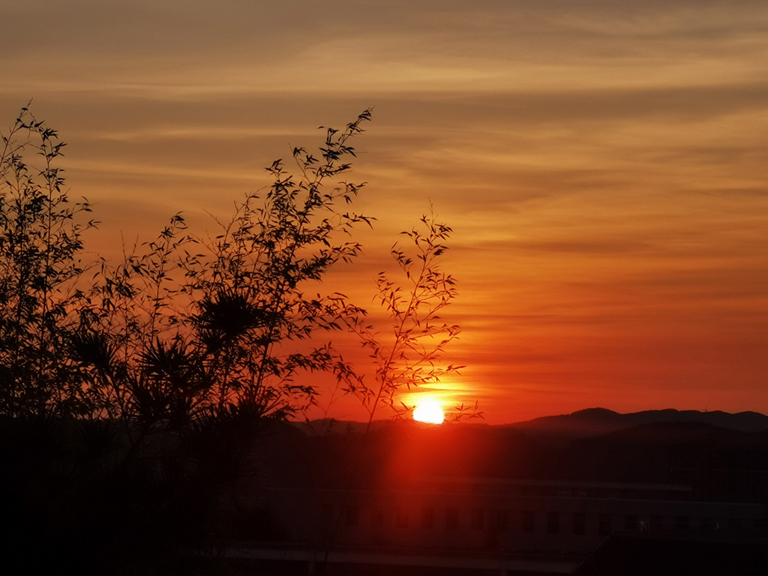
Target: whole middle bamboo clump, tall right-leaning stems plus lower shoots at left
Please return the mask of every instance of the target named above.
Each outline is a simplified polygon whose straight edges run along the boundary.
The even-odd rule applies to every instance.
[[[75,346],[97,408],[146,428],[246,413],[285,417],[317,394],[295,381],[298,372],[354,378],[329,344],[296,343],[363,314],[343,294],[304,290],[359,253],[357,242],[338,236],[371,223],[339,209],[364,184],[326,185],[350,169],[349,140],[370,117],[365,111],[343,131],[327,129],[319,158],[294,149],[299,177],[275,161],[266,195],[247,195],[217,236],[189,234],[176,215],[155,242],[134,247],[116,267],[103,263]]]

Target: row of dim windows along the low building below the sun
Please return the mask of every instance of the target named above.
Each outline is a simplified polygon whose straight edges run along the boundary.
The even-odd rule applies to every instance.
[[[472,530],[496,530],[499,532],[510,531],[519,528],[520,532],[534,534],[538,530],[543,530],[547,534],[561,534],[570,532],[571,534],[587,534],[587,514],[585,512],[574,512],[565,514],[561,512],[546,512],[544,518],[539,518],[536,512],[520,511],[516,512],[516,527],[513,527],[513,514],[510,510],[496,510],[495,512],[475,509],[464,511],[466,518],[461,518],[462,514],[458,508],[446,508],[440,515],[438,522],[435,509],[424,507],[420,510],[417,518],[412,523],[411,510],[399,507],[395,509],[394,524],[397,528],[409,528],[411,526],[420,527],[423,530],[431,530],[442,524],[446,530],[458,530],[461,528],[470,528]],[[675,518],[665,518],[662,516],[651,516],[649,521],[640,520],[636,514],[626,514],[621,517],[612,514],[597,514],[597,523],[593,530],[600,535],[608,535],[617,529],[623,530],[644,530],[644,529],[664,529],[677,528],[687,530],[691,527],[691,519],[688,516],[677,516]],[[463,520],[460,526],[460,518]],[[543,524],[537,526],[537,520]],[[373,510],[370,517],[371,525],[374,527],[383,527],[384,511],[381,509]],[[594,522],[594,519],[593,519]],[[734,526],[738,522],[732,522]],[[703,528],[718,529],[720,522],[714,519],[703,519],[700,522]],[[360,525],[360,508],[356,504],[347,506],[346,525],[355,527]],[[734,527],[731,526],[731,527]]]

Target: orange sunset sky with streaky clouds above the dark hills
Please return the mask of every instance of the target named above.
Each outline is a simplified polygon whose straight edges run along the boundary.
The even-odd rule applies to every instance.
[[[768,413],[763,0],[0,0],[0,22],[0,126],[32,98],[59,130],[94,253],[177,211],[210,227],[372,106],[353,175],[377,222],[336,278],[375,307],[399,231],[430,206],[454,229],[467,367],[440,401]]]

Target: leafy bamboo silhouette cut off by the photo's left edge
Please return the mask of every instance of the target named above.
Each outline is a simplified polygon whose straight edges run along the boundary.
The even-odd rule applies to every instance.
[[[72,203],[57,165],[65,144],[27,107],[0,150],[0,413],[82,413],[67,355],[82,294],[87,201]],[[27,153],[33,158],[27,159]]]

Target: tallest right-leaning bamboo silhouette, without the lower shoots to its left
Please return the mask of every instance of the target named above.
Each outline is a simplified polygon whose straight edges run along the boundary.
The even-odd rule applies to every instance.
[[[350,169],[342,162],[355,154],[348,141],[370,117],[365,111],[344,131],[327,129],[320,159],[295,148],[298,179],[275,161],[268,168],[273,184],[265,202],[247,197],[221,234],[205,242],[206,265],[197,266],[197,260],[186,266],[195,346],[217,375],[219,409],[288,415],[313,403],[317,394],[311,385],[294,381],[298,371],[354,377],[328,344],[312,343],[308,352],[288,351],[286,345],[309,340],[317,331],[340,330],[363,314],[343,294],[307,297],[304,289],[360,252],[359,243],[336,236],[348,236],[356,224],[371,220],[337,204],[351,203],[364,184],[342,182],[332,190],[324,185]]]

